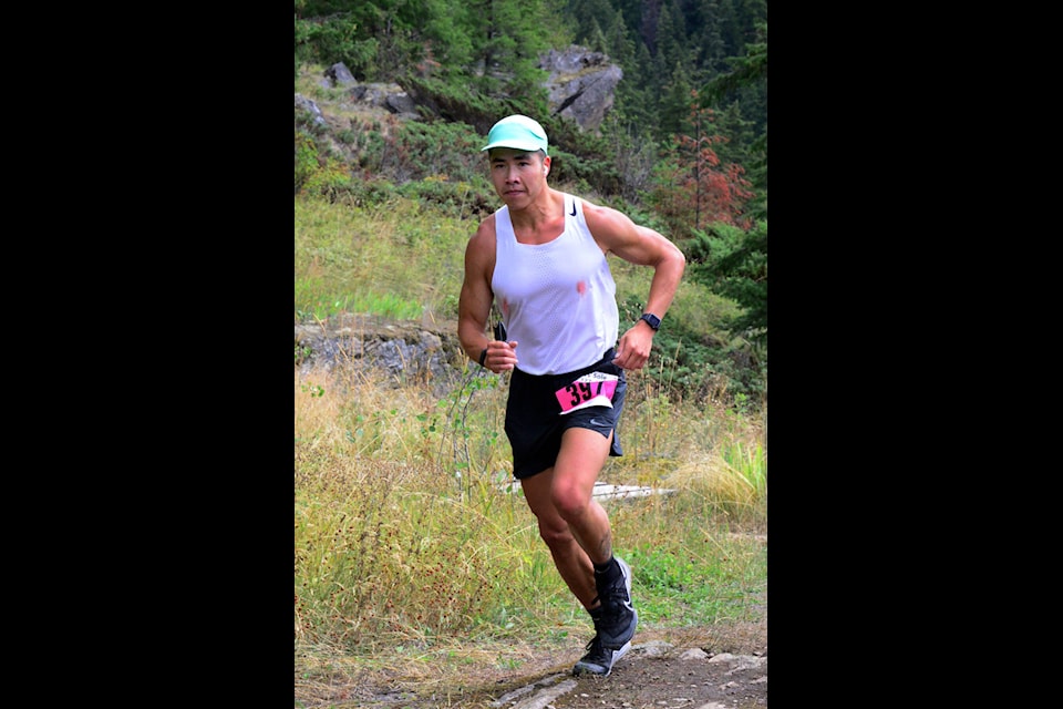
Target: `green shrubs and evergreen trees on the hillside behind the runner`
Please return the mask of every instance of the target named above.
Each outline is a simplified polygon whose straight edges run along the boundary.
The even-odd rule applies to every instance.
[[[350,218],[367,220],[361,234],[391,229],[381,234],[396,235],[398,250],[379,248],[407,269],[411,258],[445,259],[429,253],[438,246],[453,254],[448,239],[463,243],[498,205],[479,154],[487,127],[508,113],[536,116],[551,138],[554,187],[620,208],[687,255],[684,292],[648,370],[669,395],[754,411],[767,395],[766,4],[674,0],[652,14],[642,6],[296,2],[296,93],[326,117],[322,125],[296,110],[296,194],[351,207]],[[541,53],[574,42],[623,69],[615,105],[596,131],[549,110],[537,69]],[[329,86],[326,71],[337,62],[359,81],[410,92],[421,117],[401,120],[360,104],[349,88]],[[427,276],[425,292],[403,291],[394,275],[388,279],[398,282],[384,279],[362,292],[368,284],[350,270],[322,280],[317,269],[332,264],[316,256],[301,271],[297,245],[297,318],[364,309],[368,296],[412,317],[448,318],[456,307],[451,274],[437,270],[450,264],[416,264]],[[622,317],[633,321],[646,288],[626,265],[615,270],[627,280]]]

